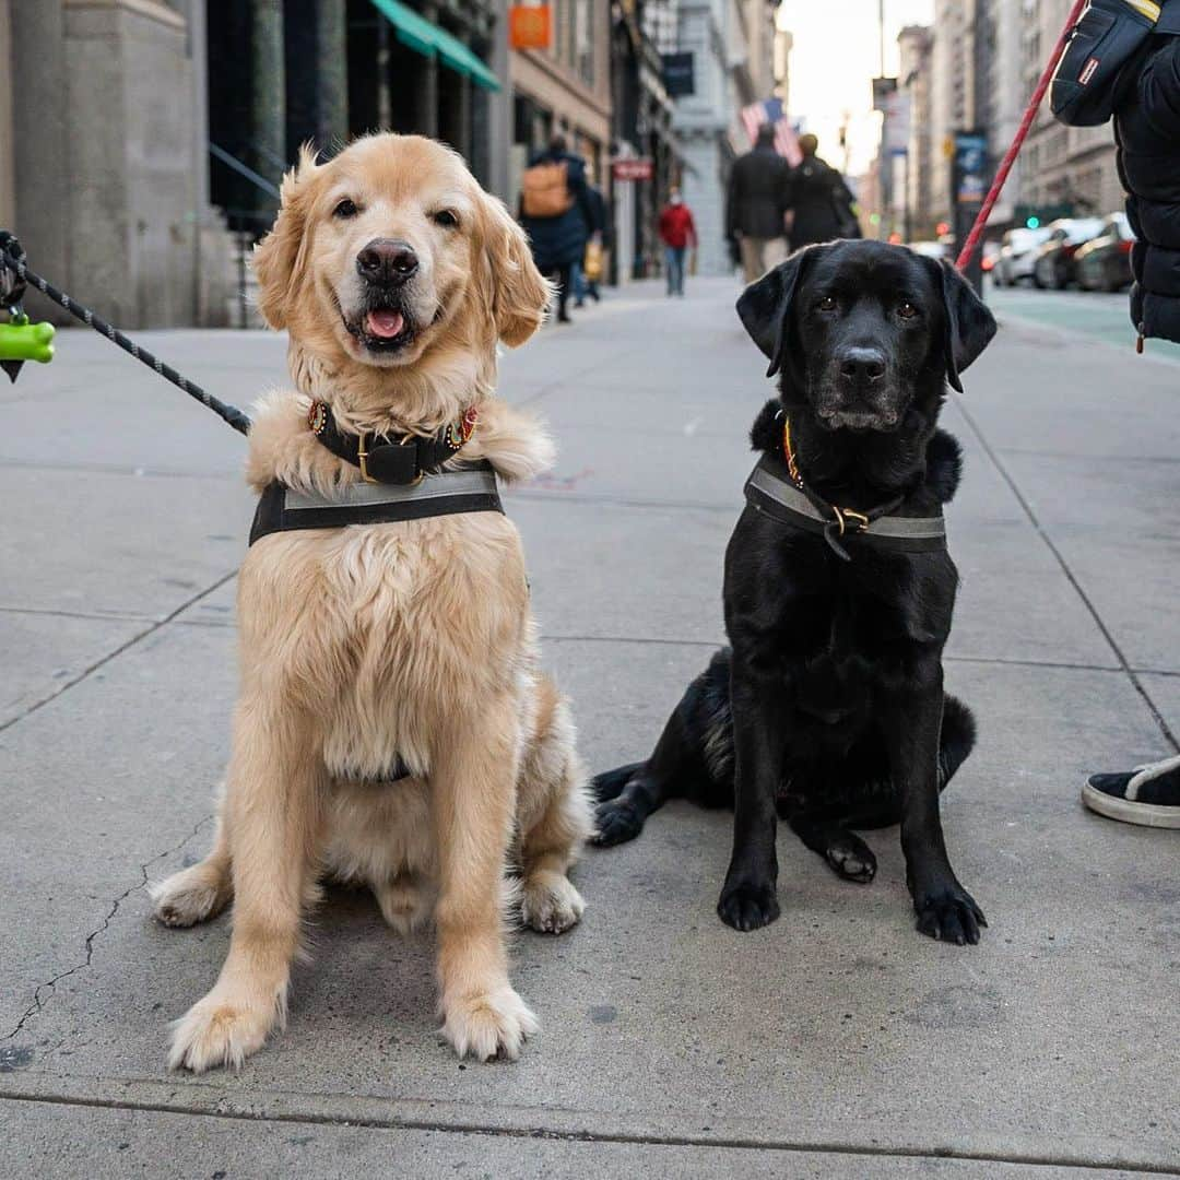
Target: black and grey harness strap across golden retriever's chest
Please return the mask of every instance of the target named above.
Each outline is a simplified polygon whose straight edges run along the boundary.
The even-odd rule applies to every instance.
[[[354,484],[330,498],[271,484],[258,500],[250,544],[271,532],[389,524],[458,512],[503,512],[492,465],[481,459],[457,471],[422,476],[413,484]]]

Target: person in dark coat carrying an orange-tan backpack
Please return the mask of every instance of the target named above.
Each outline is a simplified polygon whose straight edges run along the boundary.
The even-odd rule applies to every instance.
[[[573,267],[581,263],[595,215],[585,164],[556,135],[531,160],[520,183],[520,223],[537,269],[557,283],[557,320],[570,322]]]

